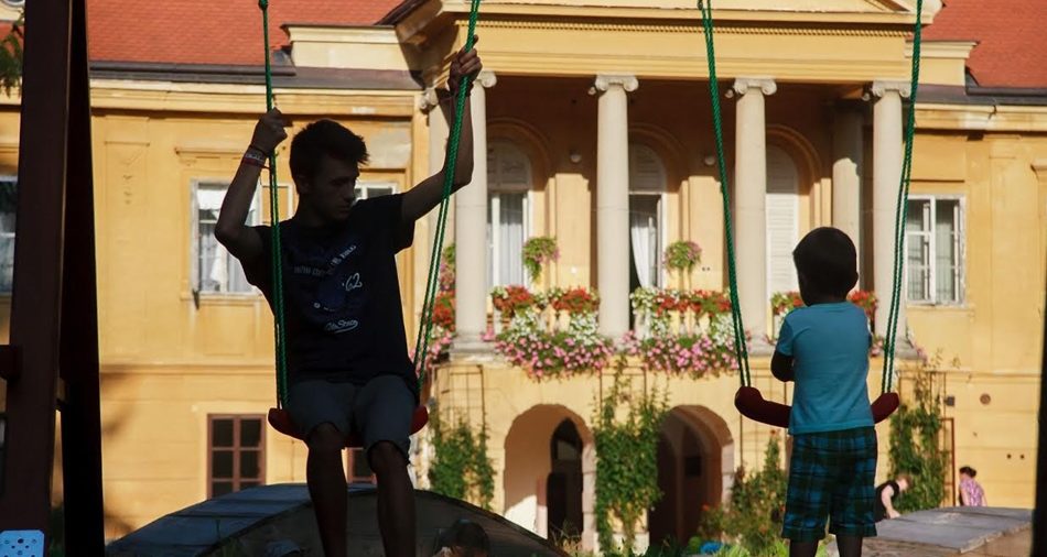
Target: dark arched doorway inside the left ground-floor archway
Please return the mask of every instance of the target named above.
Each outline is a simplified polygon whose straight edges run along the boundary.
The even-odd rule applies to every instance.
[[[549,539],[582,534],[582,438],[564,419],[549,443],[550,472],[546,481]]]

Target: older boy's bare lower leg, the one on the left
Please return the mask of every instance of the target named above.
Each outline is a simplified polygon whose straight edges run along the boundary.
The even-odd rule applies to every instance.
[[[305,479],[313,500],[320,540],[326,557],[347,557],[346,484],[342,467],[345,439],[332,424],[321,424],[310,434]]]

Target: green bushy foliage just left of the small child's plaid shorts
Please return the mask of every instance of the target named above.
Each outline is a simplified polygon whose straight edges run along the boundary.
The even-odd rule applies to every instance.
[[[787,488],[788,477],[781,469],[781,439],[774,432],[764,452],[764,468],[752,476],[738,468],[727,502],[703,510],[699,535],[737,542],[737,549],[731,550],[747,551],[740,555],[778,555]]]

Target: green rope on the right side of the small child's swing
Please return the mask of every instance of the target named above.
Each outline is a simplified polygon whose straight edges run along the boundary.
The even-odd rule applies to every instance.
[[[902,280],[904,276],[903,262],[905,261],[905,220],[909,210],[909,182],[913,176],[913,141],[916,135],[916,92],[920,83],[920,39],[924,15],[924,0],[916,1],[916,25],[913,31],[913,75],[909,87],[909,111],[905,122],[905,159],[902,162],[902,176],[898,178],[898,207],[894,222],[894,276],[891,292],[891,309],[887,313],[887,335],[884,339],[884,393],[893,389],[894,383],[894,353],[898,328],[898,314],[902,308]],[[904,337],[904,335],[903,335]]]

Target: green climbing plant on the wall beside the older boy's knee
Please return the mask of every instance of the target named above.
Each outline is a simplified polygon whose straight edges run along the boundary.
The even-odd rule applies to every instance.
[[[435,452],[429,469],[432,490],[489,511],[495,496],[495,470],[487,454],[487,432],[474,433],[464,421],[449,428],[435,411],[429,427]]]

